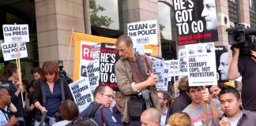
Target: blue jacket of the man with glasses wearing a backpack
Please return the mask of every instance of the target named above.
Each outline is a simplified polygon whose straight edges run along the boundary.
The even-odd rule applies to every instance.
[[[83,110],[83,111],[80,113],[79,117],[87,117],[87,116],[88,116],[88,113],[91,112],[92,107],[93,107],[93,106],[96,106],[96,104],[98,104],[98,103],[95,102],[95,101],[94,101],[94,102],[91,102],[90,105],[89,105],[85,110]],[[121,126],[121,125],[115,120],[115,117],[112,115],[111,110],[110,110],[108,107],[106,107],[106,106],[104,106],[104,118],[105,118],[106,123],[107,123],[108,126],[112,126],[112,125]],[[95,120],[97,124],[103,125],[103,124],[101,124],[101,120],[100,120],[100,108],[98,108],[98,109],[96,110],[96,113],[94,113],[93,120]]]

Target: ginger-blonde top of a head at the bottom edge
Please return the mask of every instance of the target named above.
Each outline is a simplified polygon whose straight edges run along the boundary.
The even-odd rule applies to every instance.
[[[169,126],[193,126],[190,115],[187,113],[174,113],[168,119]]]

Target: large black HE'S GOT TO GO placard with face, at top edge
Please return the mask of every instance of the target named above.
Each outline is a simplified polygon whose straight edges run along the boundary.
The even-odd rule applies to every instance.
[[[173,0],[179,45],[218,41],[215,0]]]

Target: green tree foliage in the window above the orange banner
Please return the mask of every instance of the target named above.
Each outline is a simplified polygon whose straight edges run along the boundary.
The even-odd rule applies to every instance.
[[[109,25],[114,22],[111,20],[111,17],[101,16],[98,14],[99,12],[104,12],[106,9],[100,5],[96,5],[95,0],[89,0],[89,5],[91,9],[90,17],[92,26],[109,28]]]

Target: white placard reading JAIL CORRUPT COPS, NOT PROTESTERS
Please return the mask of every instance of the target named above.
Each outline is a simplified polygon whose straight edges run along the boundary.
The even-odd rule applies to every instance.
[[[216,85],[214,43],[186,45],[186,61],[190,86]]]

